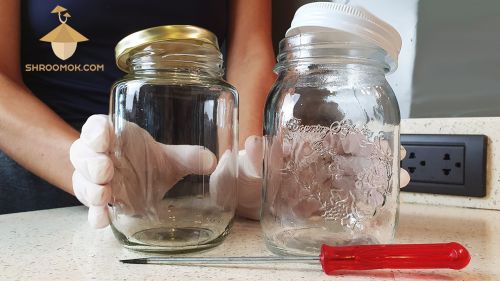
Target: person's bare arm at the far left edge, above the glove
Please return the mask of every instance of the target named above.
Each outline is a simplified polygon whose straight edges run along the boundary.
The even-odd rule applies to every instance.
[[[0,1],[0,150],[51,184],[73,193],[69,147],[78,132],[24,85],[20,1]],[[34,187],[36,188],[36,187]]]

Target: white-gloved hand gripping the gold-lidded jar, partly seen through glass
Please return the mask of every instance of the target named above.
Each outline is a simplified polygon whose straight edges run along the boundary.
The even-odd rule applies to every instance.
[[[114,138],[108,116],[93,115],[70,148],[73,190],[89,207],[88,220],[95,228],[109,224],[111,200],[129,213],[154,212],[175,183],[189,174],[210,174],[217,163],[202,146],[165,145],[134,123],[122,121],[121,126],[121,135]],[[113,146],[122,156],[110,154]]]

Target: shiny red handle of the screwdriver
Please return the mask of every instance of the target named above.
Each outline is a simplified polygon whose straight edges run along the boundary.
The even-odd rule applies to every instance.
[[[321,266],[326,274],[336,270],[368,269],[462,269],[470,261],[464,246],[442,244],[392,244],[321,247]]]

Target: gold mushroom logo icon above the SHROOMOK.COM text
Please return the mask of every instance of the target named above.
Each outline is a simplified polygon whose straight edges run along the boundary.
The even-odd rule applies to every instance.
[[[57,5],[50,13],[57,13],[61,24],[40,38],[40,41],[50,42],[54,54],[62,60],[67,60],[75,53],[78,42],[88,41],[89,39],[66,23],[68,18],[71,17],[66,8]],[[61,16],[62,13],[64,14]],[[62,17],[64,17],[64,20]]]

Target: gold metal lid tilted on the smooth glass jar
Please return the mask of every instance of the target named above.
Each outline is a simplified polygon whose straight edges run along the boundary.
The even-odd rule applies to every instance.
[[[118,68],[128,72],[127,60],[133,50],[151,43],[169,40],[195,40],[213,45],[219,50],[217,36],[212,32],[194,25],[157,26],[127,35],[115,47],[115,59]]]

